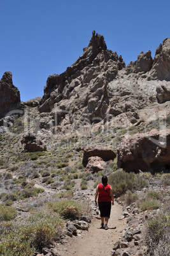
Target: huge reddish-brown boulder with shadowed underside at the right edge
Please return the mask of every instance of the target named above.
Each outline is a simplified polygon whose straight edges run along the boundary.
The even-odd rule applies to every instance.
[[[170,129],[125,136],[117,153],[118,167],[127,172],[170,169]]]

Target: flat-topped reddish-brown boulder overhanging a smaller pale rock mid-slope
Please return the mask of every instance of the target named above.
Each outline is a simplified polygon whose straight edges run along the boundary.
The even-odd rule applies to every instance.
[[[83,165],[86,166],[89,162],[89,157],[101,157],[104,161],[114,160],[116,153],[106,146],[88,145],[83,152]]]

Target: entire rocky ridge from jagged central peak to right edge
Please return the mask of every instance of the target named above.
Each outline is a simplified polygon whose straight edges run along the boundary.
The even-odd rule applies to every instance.
[[[78,60],[64,73],[48,77],[39,106],[41,129],[70,132],[107,122],[139,125],[155,108],[162,115],[165,106],[158,107],[159,103],[166,103],[166,115],[170,115],[169,42],[164,39],[154,59],[148,50],[125,67],[122,56],[107,50],[103,36],[93,31]]]

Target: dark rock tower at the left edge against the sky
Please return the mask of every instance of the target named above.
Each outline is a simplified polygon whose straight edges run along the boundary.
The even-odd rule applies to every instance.
[[[11,72],[5,72],[0,80],[0,118],[11,110],[20,110],[20,92],[13,85]]]

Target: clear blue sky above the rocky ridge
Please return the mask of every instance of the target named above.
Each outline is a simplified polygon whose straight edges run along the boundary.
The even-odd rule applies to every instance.
[[[43,96],[46,80],[71,66],[103,34],[125,64],[170,37],[169,0],[0,0],[0,79],[11,71],[22,101]]]

